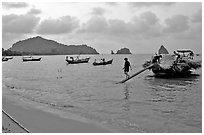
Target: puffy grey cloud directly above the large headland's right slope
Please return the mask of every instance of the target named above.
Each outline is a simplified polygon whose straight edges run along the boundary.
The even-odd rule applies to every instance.
[[[79,27],[79,20],[69,15],[60,17],[59,19],[43,20],[37,29],[40,34],[64,34],[70,33]]]

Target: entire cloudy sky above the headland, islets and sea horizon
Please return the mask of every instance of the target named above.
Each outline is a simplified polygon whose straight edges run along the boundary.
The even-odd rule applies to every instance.
[[[87,44],[99,53],[202,52],[202,3],[3,2],[2,46],[42,36],[66,45]]]

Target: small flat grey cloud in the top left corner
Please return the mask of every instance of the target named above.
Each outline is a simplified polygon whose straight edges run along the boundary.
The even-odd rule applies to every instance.
[[[28,7],[28,4],[25,2],[3,2],[2,7],[6,9],[25,8],[25,7]]]

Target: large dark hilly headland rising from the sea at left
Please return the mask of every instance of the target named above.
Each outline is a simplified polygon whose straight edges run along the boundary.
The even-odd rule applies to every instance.
[[[64,45],[40,36],[18,41],[8,50],[2,49],[2,55],[74,55],[99,54],[96,49],[82,45]]]

